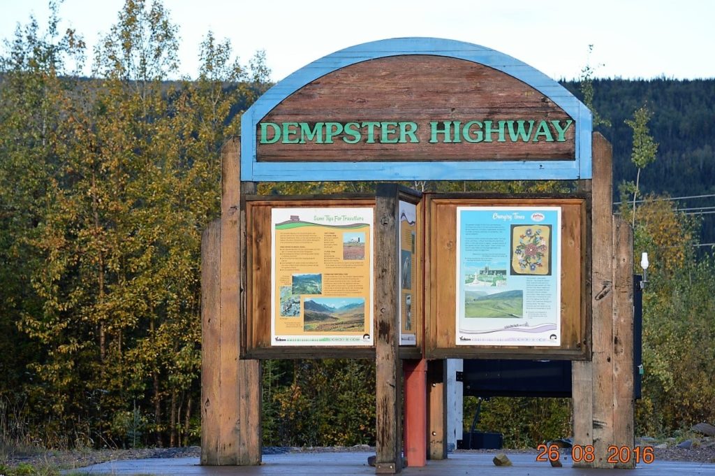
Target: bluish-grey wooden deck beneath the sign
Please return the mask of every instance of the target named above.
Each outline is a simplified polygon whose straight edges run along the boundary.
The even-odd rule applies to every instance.
[[[73,470],[70,474],[82,475],[290,475],[290,476],[351,476],[374,475],[375,468],[368,466],[370,452],[335,453],[289,453],[284,455],[264,455],[261,466],[199,466],[199,458],[154,458],[149,460],[126,460],[106,462],[101,465]],[[492,463],[494,455],[455,453],[448,460],[428,461],[425,467],[407,467],[401,474],[405,476],[486,476],[486,475],[529,475],[529,476],[715,476],[715,464],[658,461],[650,465],[638,465],[635,470],[582,470],[571,467],[565,461],[563,467],[551,467],[548,462],[536,462],[534,454],[509,454],[513,466],[496,467]]]

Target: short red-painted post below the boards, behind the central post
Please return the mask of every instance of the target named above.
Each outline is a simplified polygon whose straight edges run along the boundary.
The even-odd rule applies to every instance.
[[[427,464],[427,361],[403,361],[405,369],[405,459],[407,466]]]

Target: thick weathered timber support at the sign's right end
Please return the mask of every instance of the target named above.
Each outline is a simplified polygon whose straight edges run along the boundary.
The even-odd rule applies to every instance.
[[[574,444],[593,445],[594,460],[574,466],[632,467],[608,462],[609,446],[633,445],[633,258],[625,256],[632,256],[626,225],[619,225],[614,235],[611,145],[598,133],[593,134],[592,188],[593,345],[591,361],[573,363],[572,395]]]

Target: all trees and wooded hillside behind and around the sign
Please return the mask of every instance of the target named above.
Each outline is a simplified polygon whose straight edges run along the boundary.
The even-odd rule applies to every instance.
[[[220,148],[270,87],[270,62],[237,59],[207,31],[199,71],[177,80],[179,29],[160,1],[127,0],[93,51],[51,9],[0,52],[0,446],[197,445],[201,234],[220,215]],[[636,433],[715,423],[715,79],[563,84],[606,121],[596,128],[613,145],[614,212],[634,225],[635,262],[651,256]],[[669,200],[695,195],[710,196]],[[264,445],[374,445],[373,362],[262,365]],[[568,399],[498,398],[480,429],[533,447],[569,436],[570,415]]]

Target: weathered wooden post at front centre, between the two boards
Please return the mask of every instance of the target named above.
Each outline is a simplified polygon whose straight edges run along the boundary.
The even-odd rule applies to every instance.
[[[378,184],[375,218],[375,472],[395,473],[402,469],[397,185]]]

